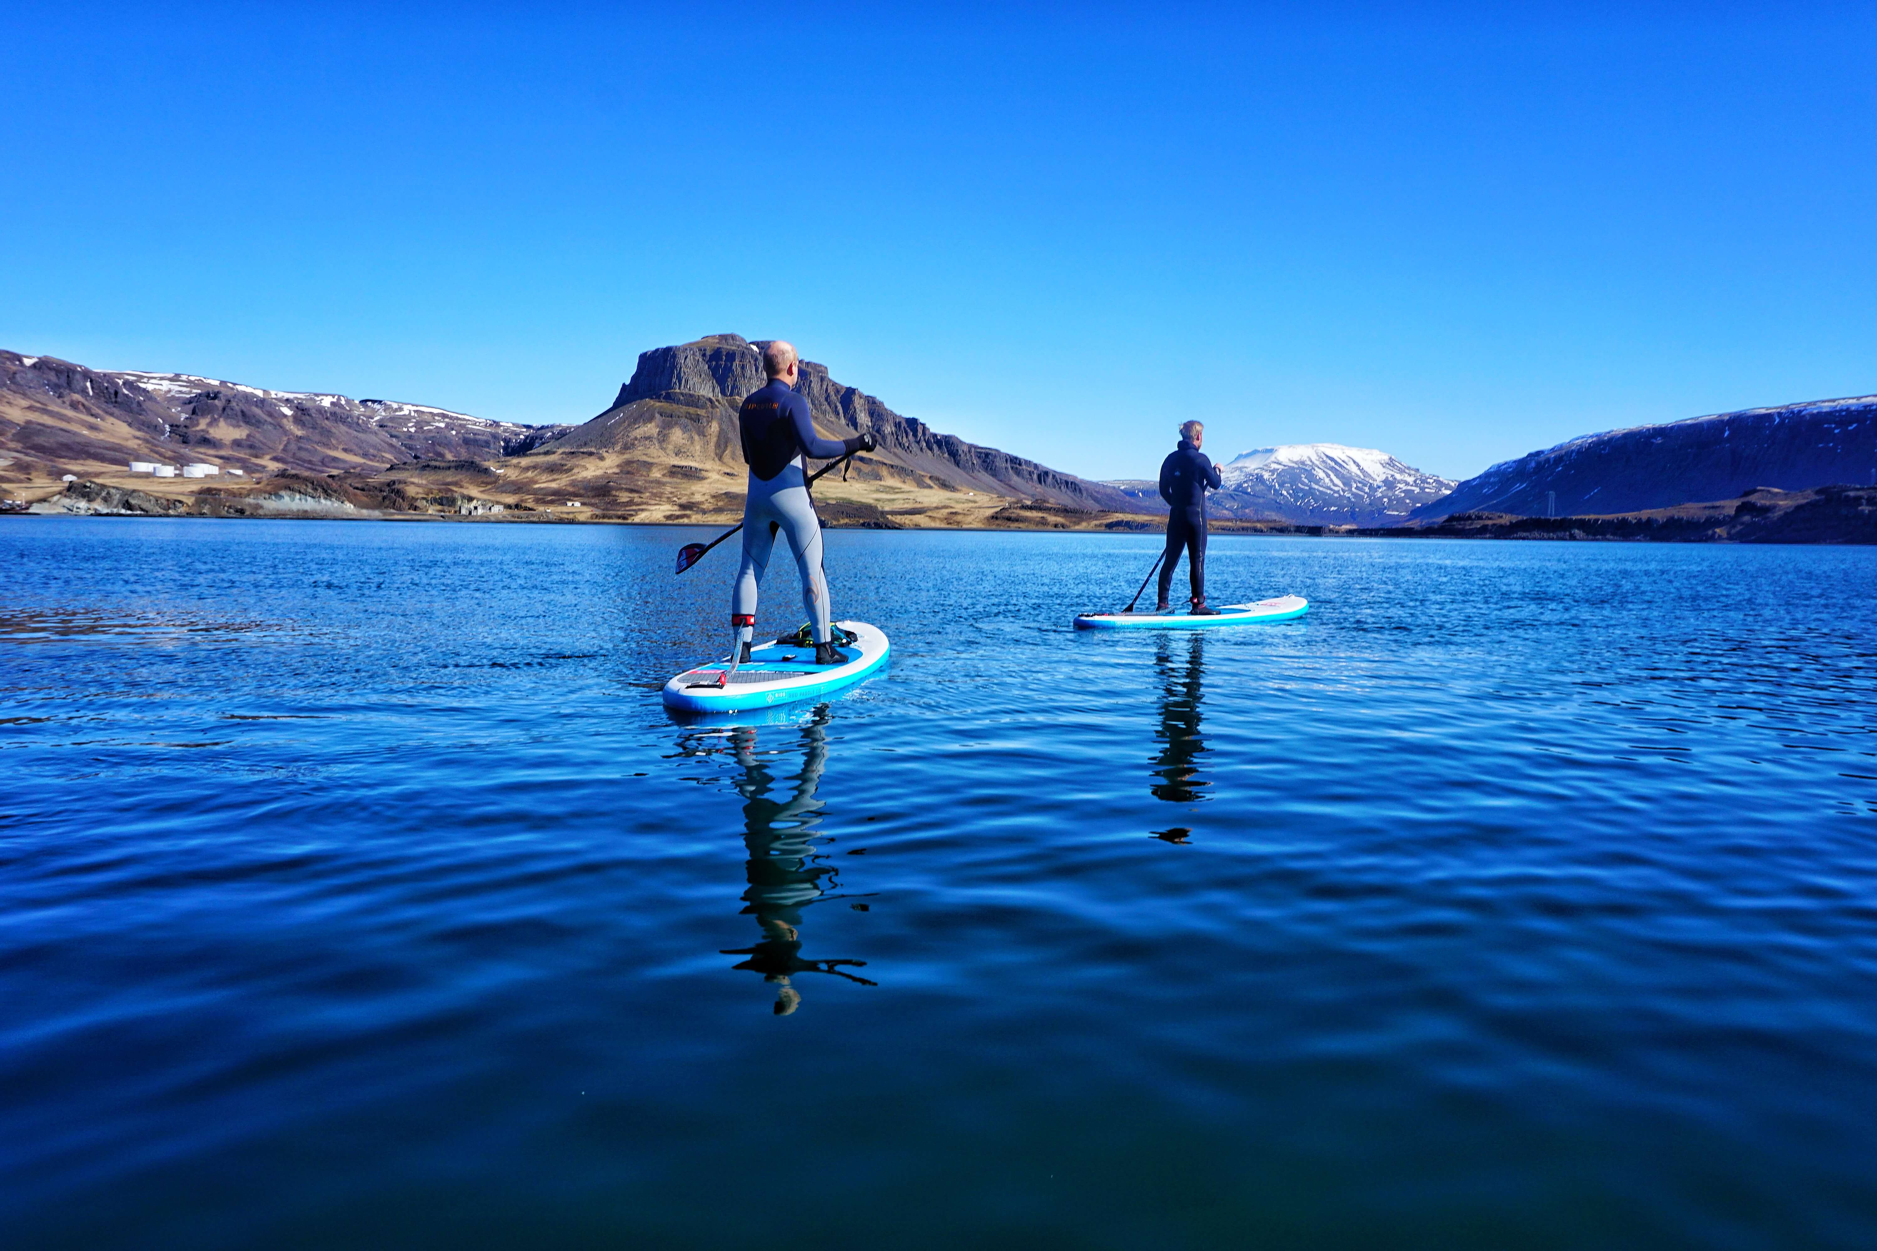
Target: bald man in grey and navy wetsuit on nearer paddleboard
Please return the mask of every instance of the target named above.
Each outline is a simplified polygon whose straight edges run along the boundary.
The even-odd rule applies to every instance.
[[[743,460],[749,463],[749,495],[743,501],[743,565],[736,570],[736,589],[730,593],[730,626],[743,660],[749,660],[749,643],[756,634],[756,583],[770,566],[775,533],[781,531],[801,570],[801,606],[809,610],[815,632],[815,664],[845,664],[832,641],[820,520],[809,499],[801,458],[833,460],[848,452],[871,452],[878,445],[871,433],[843,441],[815,433],[809,401],[794,392],[801,364],[792,343],[775,339],[764,347],[762,369],[770,375],[770,384],[751,392],[736,418],[743,435]]]

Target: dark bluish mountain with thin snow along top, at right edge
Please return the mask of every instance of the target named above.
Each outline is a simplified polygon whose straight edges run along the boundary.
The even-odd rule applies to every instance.
[[[1877,482],[1877,396],[1742,409],[1582,435],[1492,465],[1445,499],[1415,508],[1413,516],[1627,514],[1734,499],[1757,486],[1804,491],[1834,482]]]

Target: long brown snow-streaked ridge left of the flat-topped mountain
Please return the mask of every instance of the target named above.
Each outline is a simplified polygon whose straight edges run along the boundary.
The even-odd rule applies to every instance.
[[[518,454],[565,430],[0,351],[0,454],[15,476],[28,478],[34,471],[122,473],[131,460],[199,460],[248,475],[375,471],[396,461]]]

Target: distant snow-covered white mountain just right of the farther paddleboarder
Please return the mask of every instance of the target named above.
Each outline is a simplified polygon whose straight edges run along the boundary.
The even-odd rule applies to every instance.
[[[1308,525],[1395,525],[1453,490],[1387,452],[1340,443],[1286,443],[1220,465],[1220,510]]]

